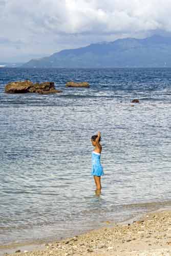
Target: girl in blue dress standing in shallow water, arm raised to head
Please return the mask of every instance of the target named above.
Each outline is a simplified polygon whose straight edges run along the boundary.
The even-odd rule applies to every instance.
[[[92,175],[94,176],[94,181],[96,184],[96,189],[101,190],[101,176],[104,175],[103,167],[100,163],[100,156],[101,156],[101,144],[100,144],[100,132],[97,135],[92,136],[91,142],[94,146],[94,151],[92,152]]]

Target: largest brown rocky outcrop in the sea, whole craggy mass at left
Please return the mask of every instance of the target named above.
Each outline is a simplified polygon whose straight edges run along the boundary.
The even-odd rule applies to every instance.
[[[6,93],[61,93],[62,91],[55,89],[54,82],[42,82],[33,84],[31,81],[10,82],[5,87]]]

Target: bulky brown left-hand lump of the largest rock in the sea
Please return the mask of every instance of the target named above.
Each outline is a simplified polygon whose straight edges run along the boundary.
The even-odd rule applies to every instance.
[[[6,93],[29,93],[30,88],[33,87],[33,83],[29,80],[10,82],[5,87]]]

